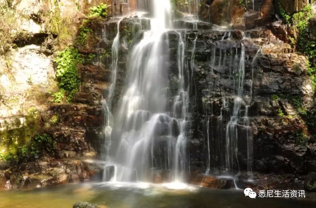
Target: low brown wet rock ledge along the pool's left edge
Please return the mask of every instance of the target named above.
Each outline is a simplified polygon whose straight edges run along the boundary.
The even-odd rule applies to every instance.
[[[83,162],[77,158],[45,157],[34,162],[23,163],[19,168],[0,170],[1,188],[38,188],[102,180],[102,166]]]

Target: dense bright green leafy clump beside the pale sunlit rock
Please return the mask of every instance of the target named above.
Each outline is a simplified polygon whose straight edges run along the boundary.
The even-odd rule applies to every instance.
[[[59,91],[53,95],[55,102],[61,102],[65,95],[67,95],[67,102],[72,100],[81,84],[77,65],[83,62],[82,55],[71,46],[58,52],[55,63]]]

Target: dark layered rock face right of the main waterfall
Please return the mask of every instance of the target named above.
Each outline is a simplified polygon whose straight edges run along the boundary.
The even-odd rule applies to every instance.
[[[240,82],[238,75],[234,75],[238,67],[229,69],[232,65],[227,62],[234,60],[234,56],[240,60],[245,50],[244,92],[238,95],[243,97],[239,113],[249,116],[251,132],[243,123],[248,117],[240,116],[240,126],[236,127],[238,152],[234,156],[238,159],[232,158],[236,166],[231,168],[246,170],[251,166],[248,160],[251,157],[253,170],[259,172],[306,174],[313,171],[313,130],[306,132],[303,115],[305,110],[314,107],[306,58],[293,53],[290,45],[277,39],[270,30],[251,30],[244,35],[249,38],[240,38],[238,31],[231,33],[232,38],[228,38],[228,33],[214,31],[185,33],[189,54],[197,38],[194,69],[188,69],[193,70],[194,80],[190,97],[191,166],[206,168],[205,163],[217,168],[227,166],[225,148],[227,140],[231,141],[231,136],[227,136],[227,125],[234,111],[234,89]],[[170,41],[177,42],[177,38]],[[190,62],[191,55],[187,57]],[[176,61],[176,53],[171,54],[171,59],[171,62]],[[247,155],[249,150],[252,151],[247,147],[247,138],[253,141],[253,157]]]

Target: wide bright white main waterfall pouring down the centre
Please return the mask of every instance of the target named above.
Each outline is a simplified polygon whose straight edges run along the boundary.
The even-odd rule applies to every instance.
[[[189,96],[185,86],[184,42],[179,34],[178,93],[169,109],[166,51],[171,6],[168,0],[155,0],[153,4],[151,30],[143,32],[143,39],[131,50],[127,84],[115,114],[111,140],[117,150],[111,162],[114,170],[108,171],[110,176],[106,177],[111,181],[151,181],[153,169],[173,169],[173,181],[182,182],[188,169]]]

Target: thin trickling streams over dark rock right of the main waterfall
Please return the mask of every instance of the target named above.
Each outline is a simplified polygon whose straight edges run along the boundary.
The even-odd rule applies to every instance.
[[[224,33],[221,40],[212,44],[209,62],[210,74],[208,75],[209,100],[207,101],[208,105],[204,107],[206,109],[204,122],[206,128],[204,144],[207,146],[207,149],[205,149],[206,174],[212,174],[210,169],[212,168],[212,164],[214,164],[214,168],[222,167],[224,171],[222,174],[225,177],[228,177],[227,174],[234,174],[236,170],[240,171],[240,157],[246,157],[247,170],[251,175],[253,152],[252,132],[248,116],[252,92],[250,92],[250,99],[244,92],[246,79],[245,46],[243,41],[241,41],[239,43],[240,46],[235,48],[231,44],[235,40],[230,39],[230,36],[230,32]],[[252,60],[251,84],[254,64],[259,53],[260,51],[257,52],[257,55]],[[213,103],[216,102],[218,95],[214,95],[218,93],[218,84],[224,79],[227,83],[230,83],[227,86],[231,87],[227,88],[223,86],[223,89],[220,88],[219,95],[221,96],[222,106],[220,108],[220,115],[216,116],[213,115],[213,113],[217,114],[213,110]],[[252,91],[252,88],[250,91]],[[212,121],[214,119],[216,119],[217,124],[213,127]]]

